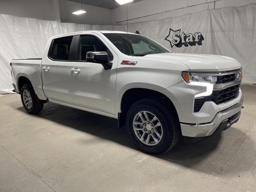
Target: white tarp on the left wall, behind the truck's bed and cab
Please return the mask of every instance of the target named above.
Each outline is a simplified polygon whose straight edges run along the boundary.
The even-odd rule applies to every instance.
[[[50,37],[85,30],[114,30],[114,26],[60,23],[0,14],[0,94],[12,93],[11,59],[42,58]]]

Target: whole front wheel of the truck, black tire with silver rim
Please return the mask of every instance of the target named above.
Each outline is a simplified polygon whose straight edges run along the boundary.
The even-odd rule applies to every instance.
[[[126,126],[136,146],[152,154],[169,151],[180,136],[174,111],[154,98],[135,102],[128,110]]]

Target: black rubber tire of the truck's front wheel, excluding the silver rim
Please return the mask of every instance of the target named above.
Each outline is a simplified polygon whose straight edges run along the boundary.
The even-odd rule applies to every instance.
[[[140,111],[153,113],[162,125],[162,138],[156,145],[149,146],[144,144],[139,140],[133,130],[133,119]],[[175,146],[181,135],[176,112],[174,113],[160,99],[155,98],[139,100],[130,107],[126,116],[126,128],[136,146],[151,154],[162,154],[169,151]]]

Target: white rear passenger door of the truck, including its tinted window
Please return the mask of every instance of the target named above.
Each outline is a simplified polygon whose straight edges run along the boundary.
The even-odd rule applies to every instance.
[[[73,104],[70,88],[69,64],[75,37],[53,39],[48,57],[41,65],[43,91],[51,101]]]

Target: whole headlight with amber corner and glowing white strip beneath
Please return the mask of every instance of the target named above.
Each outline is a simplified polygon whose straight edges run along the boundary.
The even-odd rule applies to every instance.
[[[190,85],[206,87],[206,91],[195,94],[195,97],[204,97],[213,93],[213,85],[217,81],[217,76],[206,76],[191,72],[182,72],[183,79]]]

